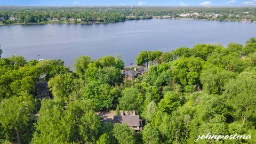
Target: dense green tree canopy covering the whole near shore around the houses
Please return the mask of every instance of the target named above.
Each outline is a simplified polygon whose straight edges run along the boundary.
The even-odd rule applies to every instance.
[[[118,56],[80,56],[76,73],[58,59],[1,58],[0,143],[194,143],[207,133],[251,139],[199,143],[256,143],[255,38],[244,46],[143,51],[136,60],[150,68],[129,81]],[[35,83],[42,80],[53,99],[38,102]],[[102,123],[95,114],[111,109],[136,110],[142,132]]]

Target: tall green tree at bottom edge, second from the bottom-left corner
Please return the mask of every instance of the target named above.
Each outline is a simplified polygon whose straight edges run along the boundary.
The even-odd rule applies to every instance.
[[[65,127],[61,123],[62,105],[59,102],[43,99],[35,124],[36,132],[32,143],[65,143]]]

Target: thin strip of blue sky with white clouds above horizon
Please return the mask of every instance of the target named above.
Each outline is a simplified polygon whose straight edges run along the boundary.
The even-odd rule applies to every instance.
[[[63,5],[173,5],[228,6],[252,5],[256,0],[0,0],[0,5],[63,6]]]

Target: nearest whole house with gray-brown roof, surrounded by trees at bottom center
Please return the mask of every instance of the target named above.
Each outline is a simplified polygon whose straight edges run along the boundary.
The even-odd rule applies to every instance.
[[[119,124],[127,124],[130,126],[135,132],[142,131],[142,120],[140,119],[140,116],[136,114],[135,111],[132,112],[132,114],[126,115],[124,111],[122,111],[121,115],[114,116],[113,119],[114,125]]]

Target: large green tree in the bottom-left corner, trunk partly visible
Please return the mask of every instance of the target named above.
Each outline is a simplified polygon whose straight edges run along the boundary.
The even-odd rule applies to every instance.
[[[23,132],[27,130],[26,127],[31,127],[30,118],[33,117],[33,111],[33,98],[26,93],[20,97],[3,99],[0,102],[0,124],[4,129],[6,140],[12,142],[17,140],[18,143],[25,142],[27,135]],[[12,139],[13,133],[15,133],[16,139]]]

